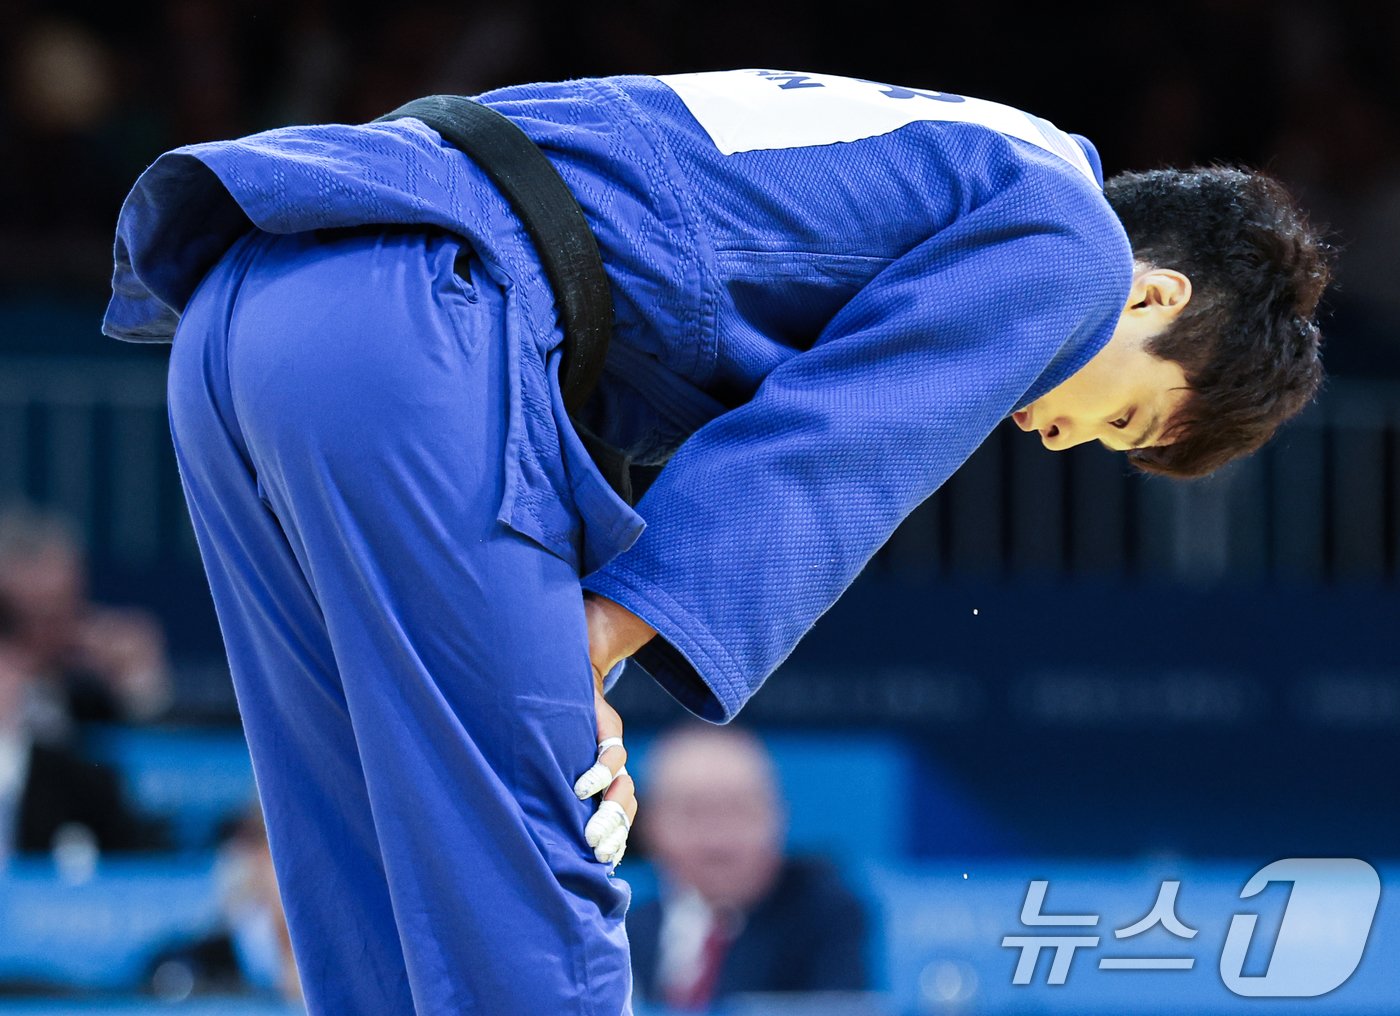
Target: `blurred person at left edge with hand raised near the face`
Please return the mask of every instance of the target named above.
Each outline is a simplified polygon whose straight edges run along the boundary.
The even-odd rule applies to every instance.
[[[171,703],[160,621],[90,602],[87,582],[64,522],[25,505],[0,511],[0,609],[38,677],[28,708],[39,739],[62,742],[83,722],[150,721]]]

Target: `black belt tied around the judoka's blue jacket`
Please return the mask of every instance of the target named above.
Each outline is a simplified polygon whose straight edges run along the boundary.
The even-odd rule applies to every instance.
[[[494,109],[462,95],[426,95],[377,118],[375,123],[406,116],[423,120],[466,153],[505,195],[533,241],[564,330],[559,379],[564,409],[608,484],[631,504],[627,456],[574,418],[602,374],[613,313],[598,241],[584,210],[545,153]]]

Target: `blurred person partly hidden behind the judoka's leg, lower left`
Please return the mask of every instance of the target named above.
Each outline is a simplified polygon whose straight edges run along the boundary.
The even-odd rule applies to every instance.
[[[234,826],[218,856],[220,926],[160,953],[150,989],[167,1001],[189,995],[274,994],[301,1001],[301,980],[277,893],[262,810],[253,805]]]

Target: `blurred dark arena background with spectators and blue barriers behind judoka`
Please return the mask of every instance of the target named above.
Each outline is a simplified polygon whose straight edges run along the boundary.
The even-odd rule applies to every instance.
[[[0,1012],[298,1012],[168,348],[98,332],[137,174],[428,92],[780,67],[1018,105],[1091,137],[1109,175],[1274,171],[1340,249],[1330,381],[1193,484],[993,434],[746,708],[725,778],[750,835],[689,856],[659,817],[638,827],[619,875],[640,1006],[1260,1016],[1225,989],[1222,942],[1260,914],[1243,971],[1263,975],[1288,886],[1240,889],[1345,856],[1382,876],[1369,947],[1287,1012],[1400,1013],[1400,6],[0,0]],[[637,669],[613,701],[644,814],[721,821],[685,774],[729,756]],[[1110,935],[1163,898],[1200,933]],[[1002,939],[1033,933],[1102,940],[1065,984],[1043,956],[1015,985]]]

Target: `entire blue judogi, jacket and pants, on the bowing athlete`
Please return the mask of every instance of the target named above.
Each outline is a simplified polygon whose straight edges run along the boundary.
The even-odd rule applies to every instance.
[[[480,97],[550,155],[616,323],[559,395],[519,224],[414,120],[162,155],[104,329],[167,341],[181,473],[312,1012],[623,1012],[582,842],[580,586],[728,719],[1131,277],[1092,146],[1019,111],[777,71]],[[463,242],[465,241],[465,242]],[[616,673],[612,675],[616,679]]]

